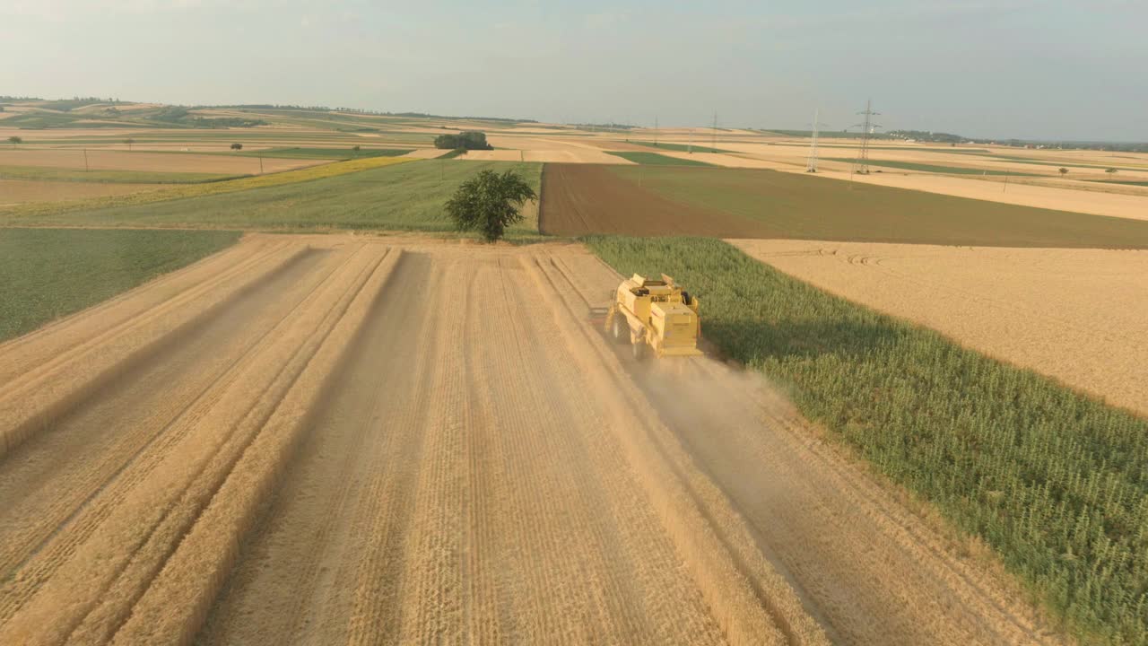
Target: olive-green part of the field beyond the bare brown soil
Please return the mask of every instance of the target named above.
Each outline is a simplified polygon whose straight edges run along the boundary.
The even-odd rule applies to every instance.
[[[759,230],[752,237],[758,238],[1148,248],[1148,222],[1137,220],[971,200],[773,170],[602,168],[626,179],[636,195],[653,193],[656,198],[665,198],[691,209],[718,212],[727,218],[737,216],[754,222]],[[690,233],[681,229],[676,232]]]

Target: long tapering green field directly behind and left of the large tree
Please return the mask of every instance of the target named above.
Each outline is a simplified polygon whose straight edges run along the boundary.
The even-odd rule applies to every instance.
[[[362,161],[366,163],[367,160]],[[41,224],[98,226],[449,231],[451,223],[443,213],[443,203],[459,183],[483,169],[515,170],[526,177],[535,192],[538,191],[542,172],[538,163],[426,160],[310,182],[70,210],[34,220]],[[537,218],[528,217],[509,231],[512,234],[537,232]]]

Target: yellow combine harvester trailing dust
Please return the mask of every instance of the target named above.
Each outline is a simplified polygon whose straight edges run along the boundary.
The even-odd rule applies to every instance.
[[[635,359],[647,352],[662,356],[697,356],[701,320],[698,299],[674,284],[634,275],[622,280],[606,314],[606,333],[619,344],[629,343]]]

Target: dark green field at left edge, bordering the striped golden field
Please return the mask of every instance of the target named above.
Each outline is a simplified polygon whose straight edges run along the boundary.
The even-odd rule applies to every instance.
[[[179,269],[233,231],[0,229],[0,341]]]

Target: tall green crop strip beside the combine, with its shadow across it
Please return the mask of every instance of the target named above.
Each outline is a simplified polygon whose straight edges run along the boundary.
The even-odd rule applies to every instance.
[[[705,336],[980,537],[1083,643],[1148,644],[1148,421],[698,238],[592,237],[704,294]]]

